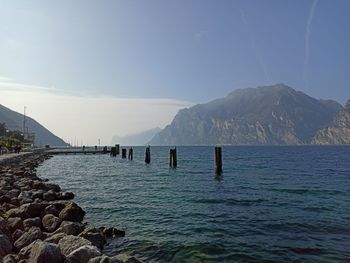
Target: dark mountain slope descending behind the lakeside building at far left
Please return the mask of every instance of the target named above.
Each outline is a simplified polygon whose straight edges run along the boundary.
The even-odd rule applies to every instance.
[[[23,114],[10,110],[0,104],[0,123],[5,123],[6,127],[11,130],[22,130]],[[30,117],[26,117],[26,127],[30,132],[35,133],[35,144],[51,146],[66,146],[68,145],[62,139],[52,134],[40,123]]]

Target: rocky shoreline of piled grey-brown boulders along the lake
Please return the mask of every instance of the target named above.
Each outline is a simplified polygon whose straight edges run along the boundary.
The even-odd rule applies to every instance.
[[[85,211],[74,194],[39,178],[36,167],[50,158],[33,153],[0,164],[0,260],[3,263],[139,262],[103,247],[125,232],[83,222]]]

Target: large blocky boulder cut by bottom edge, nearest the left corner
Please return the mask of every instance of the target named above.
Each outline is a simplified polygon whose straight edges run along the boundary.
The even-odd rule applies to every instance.
[[[64,257],[56,244],[36,242],[30,252],[28,263],[63,263]]]

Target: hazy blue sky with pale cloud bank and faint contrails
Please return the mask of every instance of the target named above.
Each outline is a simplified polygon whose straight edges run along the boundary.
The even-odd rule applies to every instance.
[[[0,0],[0,103],[66,141],[169,124],[237,88],[350,97],[348,0]]]

